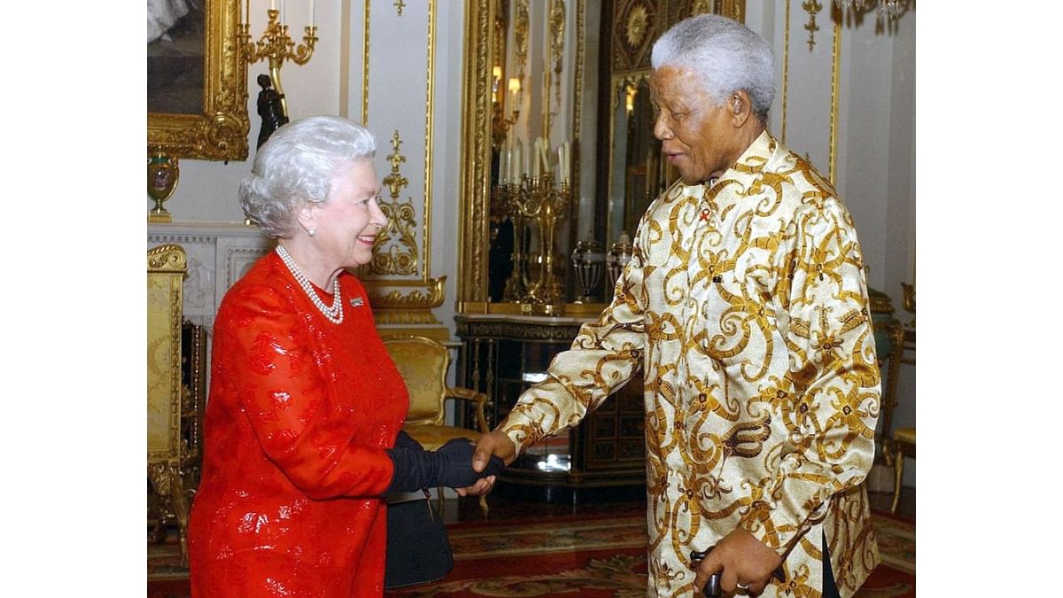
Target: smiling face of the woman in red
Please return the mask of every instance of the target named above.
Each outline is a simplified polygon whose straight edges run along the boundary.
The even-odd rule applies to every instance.
[[[379,190],[373,163],[359,160],[339,168],[328,199],[315,205],[315,245],[344,268],[373,260],[373,239],[387,223],[376,203]]]

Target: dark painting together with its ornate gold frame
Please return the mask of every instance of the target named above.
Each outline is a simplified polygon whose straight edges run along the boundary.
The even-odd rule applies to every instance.
[[[148,0],[148,151],[247,160],[239,0]]]

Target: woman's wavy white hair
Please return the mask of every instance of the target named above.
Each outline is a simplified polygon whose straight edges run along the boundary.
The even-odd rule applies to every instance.
[[[328,199],[340,166],[372,160],[376,138],[368,129],[338,116],[311,116],[282,126],[258,153],[240,183],[243,214],[267,236],[290,235],[304,202]]]

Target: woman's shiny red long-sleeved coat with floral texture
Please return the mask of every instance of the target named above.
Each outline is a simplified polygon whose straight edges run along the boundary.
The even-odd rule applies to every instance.
[[[361,282],[343,273],[340,288],[334,325],[271,252],[218,310],[188,532],[193,597],[383,593],[384,449],[409,399]]]

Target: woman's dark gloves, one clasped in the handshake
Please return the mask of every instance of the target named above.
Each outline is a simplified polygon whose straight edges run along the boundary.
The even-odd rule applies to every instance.
[[[417,444],[411,439],[411,443]],[[497,476],[505,469],[505,464],[497,456],[477,474],[472,469],[472,453],[475,447],[466,438],[454,438],[436,451],[416,448],[395,448],[388,451],[394,463],[394,474],[391,485],[385,494],[396,492],[416,492],[419,489],[446,486],[463,488],[476,483],[476,480],[488,476]]]

